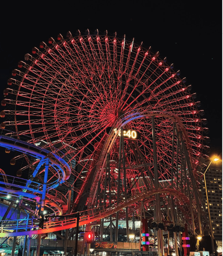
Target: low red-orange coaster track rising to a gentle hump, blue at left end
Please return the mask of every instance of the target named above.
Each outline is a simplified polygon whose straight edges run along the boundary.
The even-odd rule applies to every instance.
[[[182,207],[189,206],[190,202],[189,199],[185,196],[184,193],[181,193],[180,191],[177,191],[175,189],[171,188],[160,188],[153,191],[144,191],[142,193],[136,194],[135,196],[130,197],[127,200],[124,200],[120,203],[114,204],[112,207],[108,208],[97,208],[95,211],[91,210],[91,213],[89,214],[89,211],[82,211],[80,212],[81,217],[79,220],[79,225],[85,225],[87,223],[91,223],[96,220],[100,220],[102,218],[105,218],[111,214],[116,213],[117,211],[122,210],[123,208],[139,202],[144,199],[153,199],[153,196],[155,194],[159,194],[160,197],[163,196],[169,196],[172,195],[176,199],[178,199],[180,205]],[[37,230],[30,230],[33,228],[38,228],[38,224],[40,222],[40,218],[30,218],[26,220],[4,220],[2,221],[2,229],[0,232],[0,237],[5,236],[18,236],[18,235],[34,235],[34,234],[45,234],[49,232],[55,232],[59,230],[64,229],[70,229],[73,227],[76,227],[77,218],[75,217],[76,213],[72,214],[74,217],[68,217],[63,216],[63,220],[59,220],[55,217],[52,217],[49,219],[49,221],[46,221],[44,223],[43,229],[37,229]],[[60,216],[58,216],[60,217]],[[28,230],[29,229],[29,230]],[[9,230],[14,230],[14,232],[8,232]]]

